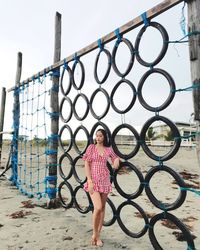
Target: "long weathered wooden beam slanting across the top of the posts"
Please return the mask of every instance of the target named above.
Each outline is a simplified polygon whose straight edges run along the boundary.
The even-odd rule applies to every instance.
[[[184,0],[165,0],[163,2],[161,2],[160,4],[154,6],[153,8],[151,8],[150,10],[148,10],[146,12],[147,18],[152,19],[158,15],[160,15],[161,13],[167,11],[168,9],[174,7],[175,5],[183,2]],[[143,20],[141,18],[141,16],[138,16],[136,18],[134,18],[133,20],[129,21],[128,23],[124,24],[123,26],[119,27],[119,32],[121,34],[125,34],[127,32],[129,32],[130,30],[138,27],[139,25],[141,25],[143,23]],[[116,39],[116,34],[115,31],[105,35],[104,37],[101,38],[102,43],[106,44],[109,43],[110,41]],[[95,41],[93,43],[91,43],[90,45],[86,46],[85,48],[79,50],[76,52],[77,56],[83,56],[95,49],[98,48],[98,41]],[[26,79],[24,81],[24,83],[28,83],[31,82],[33,78],[37,78],[38,76],[43,76],[45,73],[48,73],[50,71],[52,71],[53,69],[57,69],[60,66],[64,65],[65,62],[71,62],[74,60],[74,54],[64,58],[61,61],[57,61],[54,62],[54,64],[52,66],[49,66],[47,68],[45,68],[44,70],[40,71],[39,73],[33,75],[32,77],[29,77],[28,79]],[[60,60],[60,59],[59,59]],[[21,83],[22,84],[22,83]],[[9,89],[8,91],[12,91],[13,88]]]

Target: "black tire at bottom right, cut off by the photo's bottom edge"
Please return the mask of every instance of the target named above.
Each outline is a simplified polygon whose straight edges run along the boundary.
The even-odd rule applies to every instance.
[[[149,238],[151,241],[151,244],[153,245],[154,249],[156,250],[163,250],[164,248],[161,247],[159,242],[156,239],[155,233],[154,233],[154,225],[157,221],[167,219],[173,222],[183,233],[184,239],[187,241],[187,249],[196,249],[194,245],[194,241],[192,239],[192,235],[190,231],[187,229],[187,227],[173,214],[170,213],[160,213],[155,215],[153,218],[151,218],[149,223]]]

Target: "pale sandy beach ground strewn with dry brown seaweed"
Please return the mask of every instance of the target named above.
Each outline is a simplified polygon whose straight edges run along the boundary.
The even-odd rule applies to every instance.
[[[3,156],[6,159],[6,156]],[[155,166],[155,162],[140,151],[133,158],[134,165],[137,166],[143,175]],[[165,163],[167,166],[179,172],[185,182],[191,187],[199,188],[199,167],[194,148],[181,148],[177,155]],[[8,173],[9,174],[9,173]],[[156,197],[171,200],[176,199],[177,185],[173,179],[166,174],[154,178],[152,185]],[[132,179],[130,173],[119,176],[119,183],[123,183],[123,190],[129,192],[132,189]],[[121,197],[115,187],[109,198],[117,208],[126,201]],[[145,191],[133,200],[140,205],[151,218],[162,211],[156,208],[148,199]],[[97,247],[90,245],[92,233],[91,212],[87,214],[79,213],[75,208],[65,209],[59,206],[56,209],[47,209],[47,199],[30,199],[23,196],[16,187],[11,186],[6,176],[0,178],[0,249],[1,250],[86,250]],[[111,209],[107,207],[106,218],[111,216]],[[194,238],[196,249],[200,249],[200,207],[199,196],[193,192],[187,192],[185,202],[176,210],[170,211],[177,216],[190,230]],[[121,219],[131,231],[138,231],[142,226],[141,218],[137,210],[132,207],[124,208]],[[182,241],[180,230],[174,224],[166,223],[167,220],[159,221],[155,226],[157,240],[163,249],[187,249],[187,244]],[[118,222],[111,226],[104,226],[102,231],[104,241],[103,249],[127,249],[127,250],[151,250],[154,249],[148,232],[141,238],[131,238],[126,235],[118,225]]]

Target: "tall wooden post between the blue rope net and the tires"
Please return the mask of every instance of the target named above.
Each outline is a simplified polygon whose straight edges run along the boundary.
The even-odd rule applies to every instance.
[[[60,61],[61,56],[61,14],[56,12],[55,17],[55,47],[54,63]],[[59,75],[60,67],[53,70],[52,88],[51,88],[51,136],[49,153],[49,177],[47,178],[49,186],[47,189],[50,202],[48,207],[54,207],[56,204],[56,186],[57,186],[57,151],[58,151],[58,131],[59,131]]]

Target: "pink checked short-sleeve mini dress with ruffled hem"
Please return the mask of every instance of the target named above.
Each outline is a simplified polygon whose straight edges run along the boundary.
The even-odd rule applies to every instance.
[[[113,163],[116,158],[118,158],[118,156],[111,147],[104,147],[104,153],[100,155],[95,144],[88,146],[83,160],[89,163],[94,191],[99,193],[109,193],[112,191],[107,161],[111,159]],[[87,183],[84,184],[84,190],[88,192]]]

